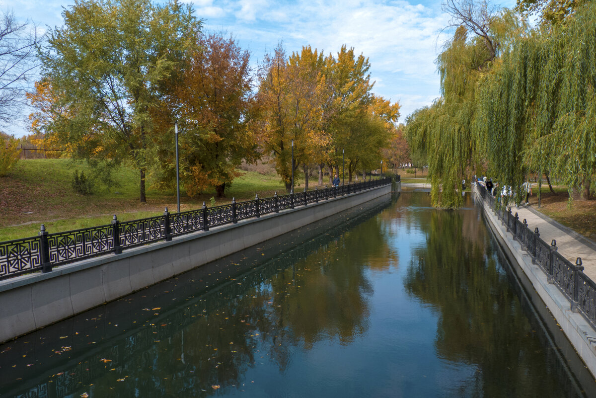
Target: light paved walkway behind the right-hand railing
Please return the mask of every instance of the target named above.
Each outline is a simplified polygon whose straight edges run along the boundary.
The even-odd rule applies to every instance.
[[[556,222],[540,213],[533,206],[512,206],[511,214],[519,216],[520,221],[526,219],[531,231],[538,227],[540,237],[548,244],[557,241],[557,251],[567,260],[575,264],[578,257],[582,258],[583,272],[592,281],[596,281],[596,242],[583,237],[577,232]]]

